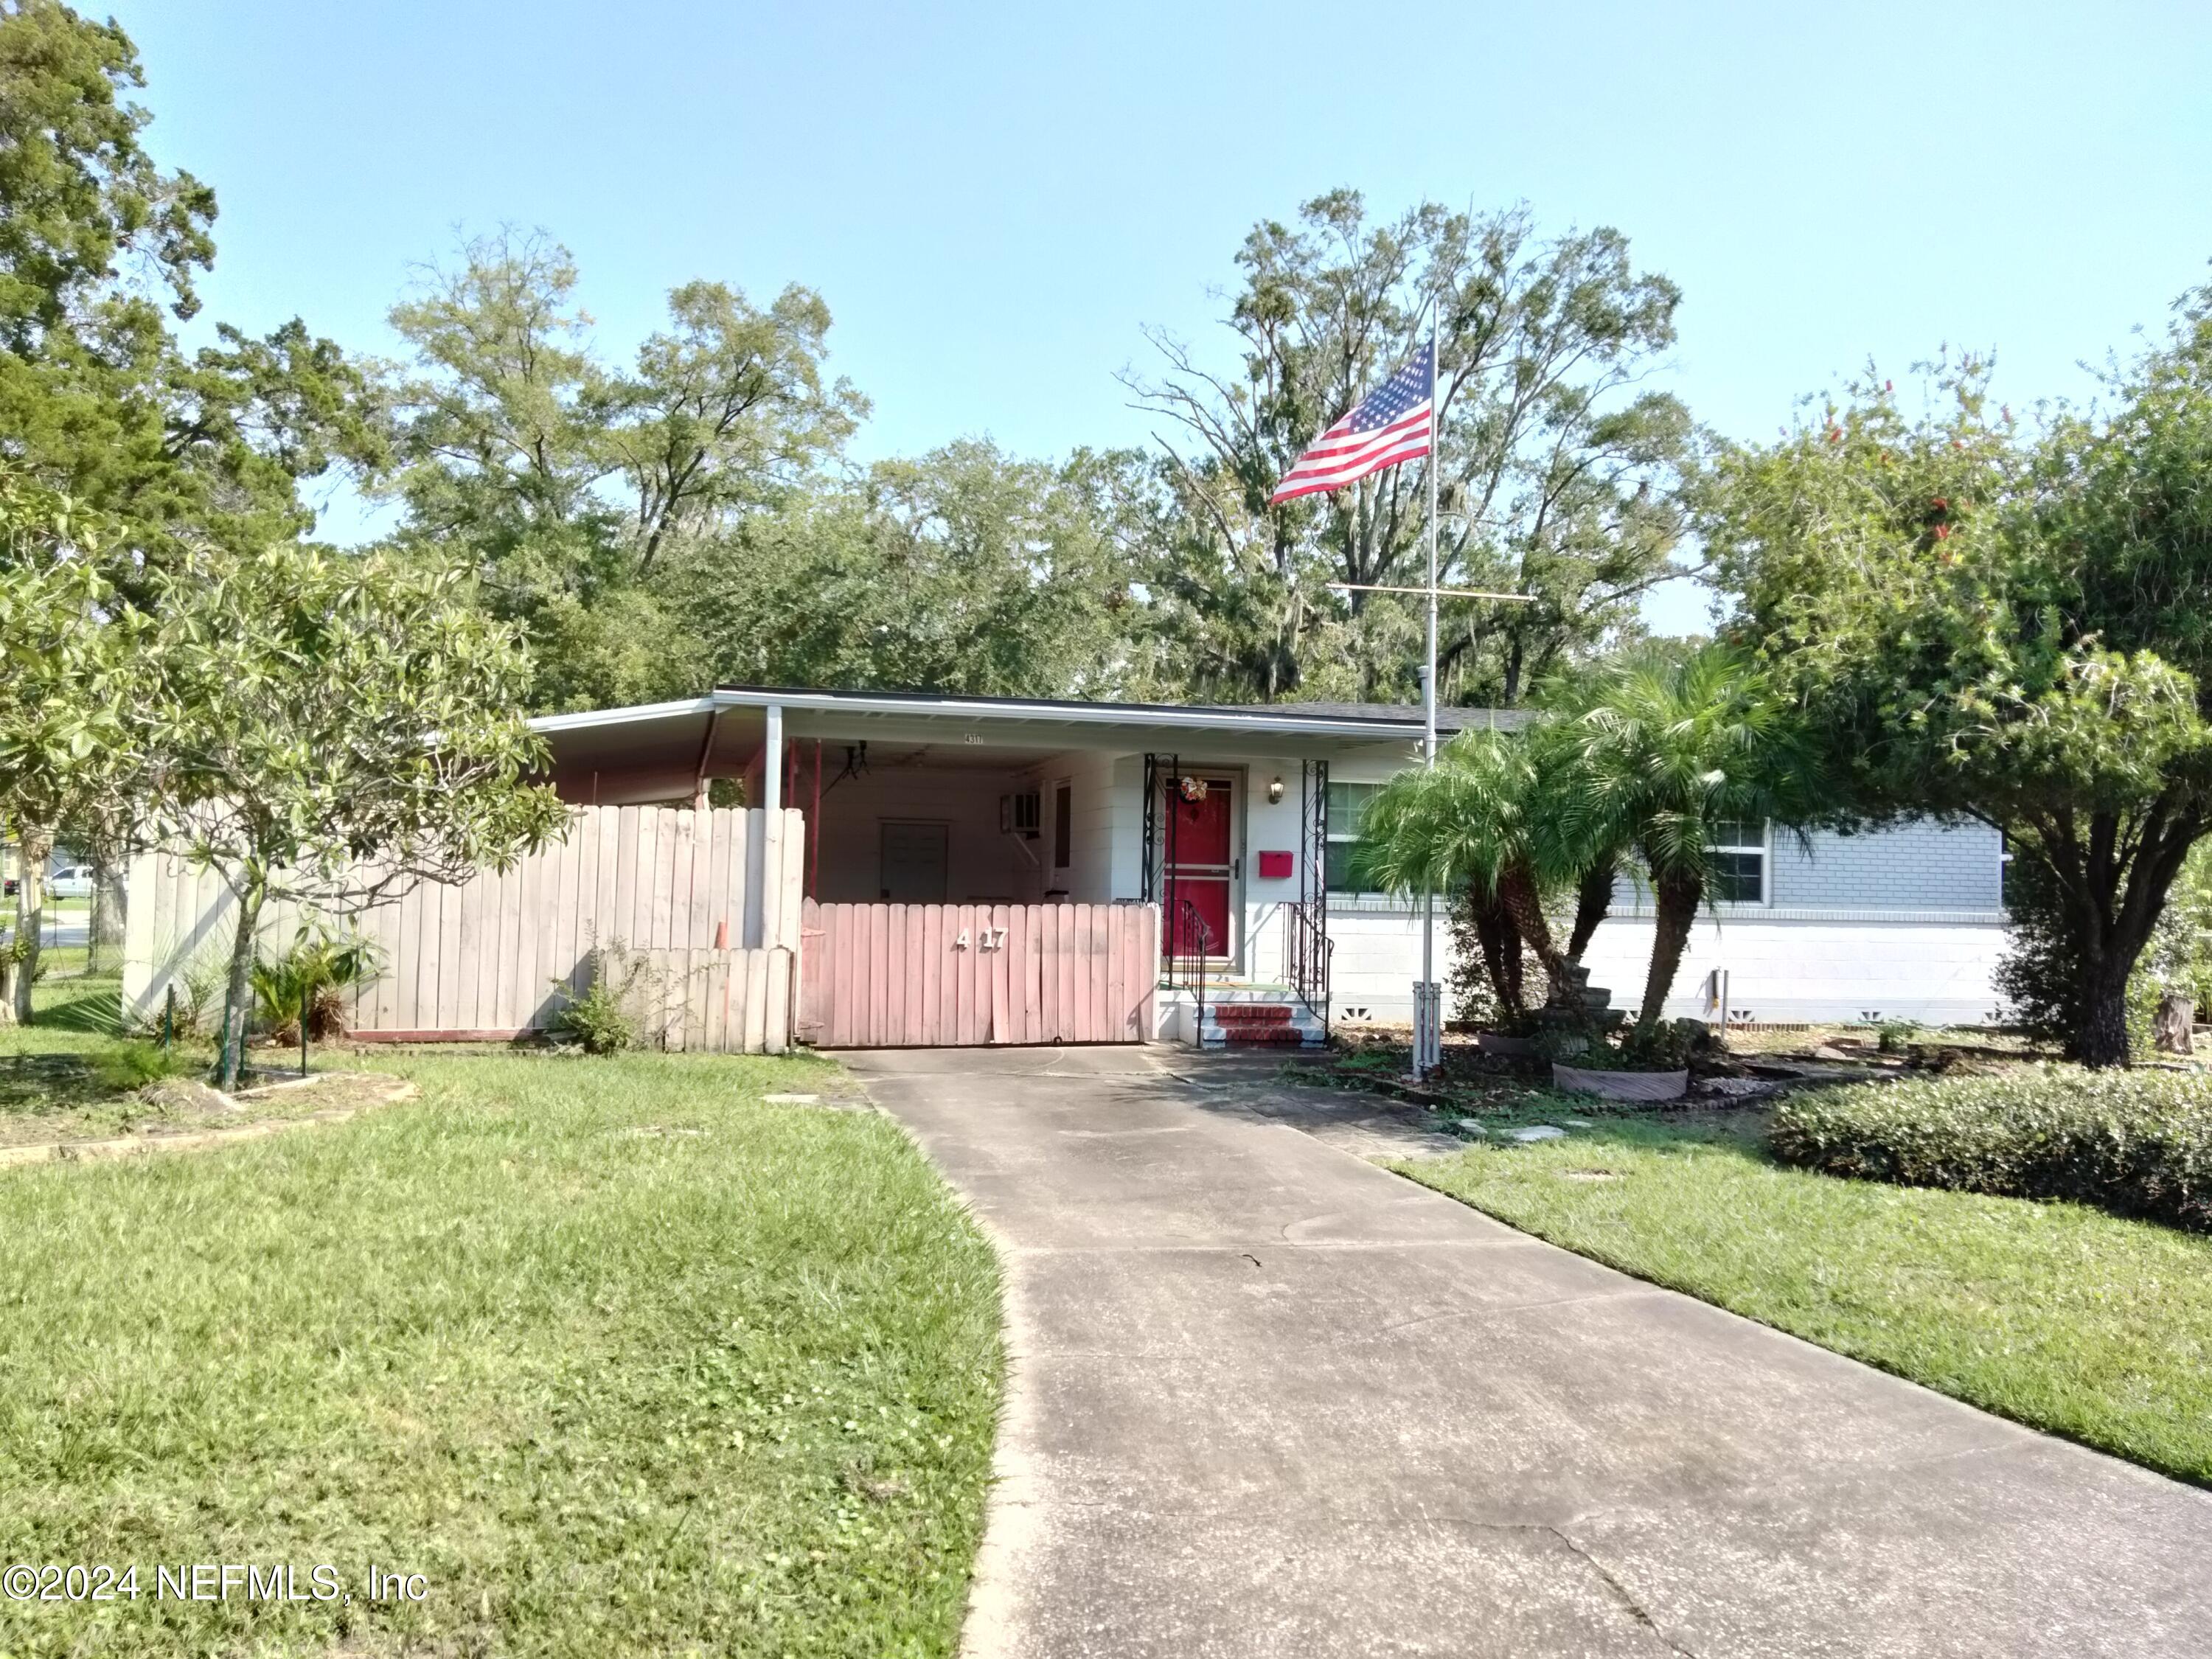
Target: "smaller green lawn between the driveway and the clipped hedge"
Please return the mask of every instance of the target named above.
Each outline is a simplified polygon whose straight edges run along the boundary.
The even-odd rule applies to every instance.
[[[1756,1113],[1582,1110],[1595,1126],[1559,1141],[1398,1170],[1639,1279],[2212,1484],[2212,1239],[1785,1170],[1761,1155]]]

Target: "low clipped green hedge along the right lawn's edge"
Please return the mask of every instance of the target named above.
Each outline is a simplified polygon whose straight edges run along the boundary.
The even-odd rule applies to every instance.
[[[2077,1199],[2212,1232],[2212,1077],[2022,1066],[1794,1095],[1785,1164],[1902,1186]]]

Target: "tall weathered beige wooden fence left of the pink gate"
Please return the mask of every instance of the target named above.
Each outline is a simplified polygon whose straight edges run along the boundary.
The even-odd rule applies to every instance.
[[[347,1024],[392,1042],[542,1031],[566,993],[588,987],[597,949],[648,1040],[781,1053],[792,1035],[803,847],[799,812],[770,821],[761,810],[573,807],[560,843],[504,874],[420,883],[338,918],[383,962],[352,993]],[[124,1013],[157,1020],[170,987],[204,1000],[228,962],[234,916],[237,900],[212,872],[166,856],[135,860]],[[270,905],[263,949],[285,949],[299,925],[294,905]]]

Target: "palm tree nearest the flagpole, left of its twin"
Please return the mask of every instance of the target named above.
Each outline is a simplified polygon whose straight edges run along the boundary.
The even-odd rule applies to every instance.
[[[1544,964],[1551,993],[1568,982],[1571,956],[1544,916],[1544,889],[1573,880],[1562,818],[1537,750],[1504,732],[1462,732],[1433,768],[1400,772],[1360,818],[1360,874],[1402,894],[1467,889],[1482,967],[1500,1004],[1526,1013],[1520,949]],[[1579,945],[1588,942],[1577,940]]]

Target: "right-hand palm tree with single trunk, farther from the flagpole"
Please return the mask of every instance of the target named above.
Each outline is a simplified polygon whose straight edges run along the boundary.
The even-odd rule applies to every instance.
[[[1652,960],[1637,1035],[1674,989],[1697,907],[1712,880],[1712,832],[1728,821],[1807,823],[1820,772],[1794,710],[1741,650],[1606,672],[1555,734],[1573,757],[1557,830],[1568,847],[1632,847],[1652,880]]]

